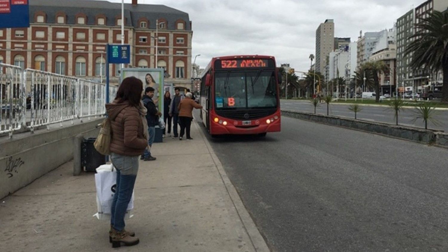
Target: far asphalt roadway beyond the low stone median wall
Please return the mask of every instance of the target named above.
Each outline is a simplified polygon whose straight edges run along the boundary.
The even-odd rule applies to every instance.
[[[300,100],[281,100],[280,104],[282,109],[293,111],[304,111],[314,113],[314,107],[309,101]],[[330,103],[330,115],[340,115],[350,118],[354,118],[355,114],[348,109],[349,105]],[[327,115],[327,104],[321,103],[316,108],[316,113]],[[362,106],[362,111],[358,112],[358,119],[373,120],[378,122],[385,122],[395,124],[394,111],[388,109],[388,107],[370,107]],[[437,110],[435,117],[438,123],[437,125],[432,122],[428,122],[428,128],[442,129],[448,132],[448,110]],[[414,121],[415,113],[414,108],[404,108],[398,115],[398,123],[401,125],[424,127],[422,119]]]

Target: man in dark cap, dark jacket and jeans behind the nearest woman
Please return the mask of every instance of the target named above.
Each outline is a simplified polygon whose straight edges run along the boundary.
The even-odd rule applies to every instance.
[[[159,124],[159,115],[162,115],[159,111],[157,111],[157,107],[152,100],[154,97],[154,88],[146,87],[145,94],[142,97],[142,102],[145,105],[146,109],[146,121],[148,122],[148,148],[145,149],[145,153],[142,158],[145,161],[155,160],[155,157],[151,156],[151,146],[154,143],[155,138],[155,125]]]

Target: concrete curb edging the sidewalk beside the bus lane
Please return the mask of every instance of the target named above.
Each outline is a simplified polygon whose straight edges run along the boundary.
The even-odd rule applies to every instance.
[[[208,152],[211,158],[213,159],[213,162],[215,163],[216,170],[220,174],[221,180],[223,181],[223,184],[227,189],[228,196],[230,197],[230,200],[233,202],[233,206],[237,210],[237,214],[240,217],[240,220],[246,230],[247,235],[250,238],[250,241],[252,242],[254,250],[257,252],[258,251],[269,252],[270,249],[267,247],[266,241],[263,239],[263,236],[261,235],[260,231],[258,231],[257,226],[255,226],[254,220],[252,220],[249,212],[247,211],[246,207],[241,201],[237,189],[235,189],[232,182],[230,182],[230,179],[228,178],[222,163],[220,162],[218,156],[216,156],[213,148],[210,145],[210,142],[207,140],[207,137],[205,136],[204,132],[202,132],[202,129],[199,127],[197,121],[196,123],[194,123],[194,127],[198,129],[199,133],[201,134],[202,140],[207,146]]]

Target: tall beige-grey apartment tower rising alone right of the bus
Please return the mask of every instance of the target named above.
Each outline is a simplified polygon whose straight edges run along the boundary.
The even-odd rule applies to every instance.
[[[327,57],[334,49],[335,24],[333,19],[327,19],[316,30],[316,72],[324,73]]]

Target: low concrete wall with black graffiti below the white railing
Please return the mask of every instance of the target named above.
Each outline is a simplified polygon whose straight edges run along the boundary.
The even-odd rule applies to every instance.
[[[64,128],[22,133],[0,141],[0,199],[30,184],[73,158],[73,139],[78,134],[96,137],[103,119]]]

